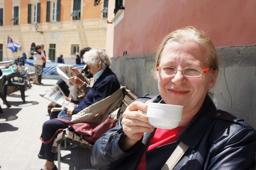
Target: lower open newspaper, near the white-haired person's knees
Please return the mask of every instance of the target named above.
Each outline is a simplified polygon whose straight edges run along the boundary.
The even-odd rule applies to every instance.
[[[60,104],[67,109],[73,109],[77,106],[75,103],[66,101],[65,94],[62,92],[61,88],[57,84],[53,86],[50,91],[47,91],[46,94],[43,95],[43,97],[49,99],[52,102]]]

